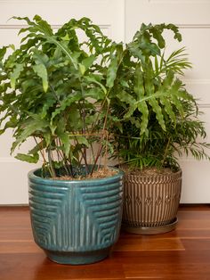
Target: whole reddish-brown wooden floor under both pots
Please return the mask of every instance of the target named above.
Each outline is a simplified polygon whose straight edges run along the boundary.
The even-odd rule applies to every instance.
[[[27,207],[0,207],[0,279],[210,280],[210,205],[182,206],[177,229],[164,235],[121,233],[108,259],[55,264],[33,241]]]

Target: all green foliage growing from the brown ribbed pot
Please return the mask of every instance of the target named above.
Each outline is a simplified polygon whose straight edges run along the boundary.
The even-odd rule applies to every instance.
[[[116,92],[121,88],[121,101],[113,103],[118,118],[112,129],[115,156],[138,169],[176,170],[177,156],[184,153],[197,160],[210,159],[197,101],[180,79],[191,64],[184,48],[166,57],[165,29],[182,41],[172,24],[142,24],[125,47],[115,85]]]

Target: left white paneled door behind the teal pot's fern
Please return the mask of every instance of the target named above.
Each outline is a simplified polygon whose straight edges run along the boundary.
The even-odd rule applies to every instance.
[[[91,18],[104,34],[116,41],[124,39],[124,1],[122,0],[0,0],[0,45],[18,44],[21,21],[12,16],[41,15],[58,29],[71,18]],[[16,161],[10,155],[12,132],[0,136],[0,204],[28,203],[27,173],[35,165]]]

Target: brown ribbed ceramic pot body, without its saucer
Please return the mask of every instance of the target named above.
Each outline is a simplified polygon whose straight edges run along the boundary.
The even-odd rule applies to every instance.
[[[182,170],[164,175],[125,174],[123,223],[165,226],[176,218],[182,190]]]

